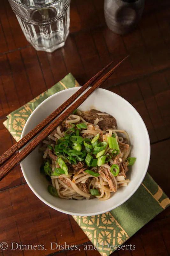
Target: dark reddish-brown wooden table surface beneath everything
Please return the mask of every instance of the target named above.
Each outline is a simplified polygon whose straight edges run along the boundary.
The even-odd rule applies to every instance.
[[[144,119],[151,140],[148,172],[170,196],[170,2],[147,0],[139,26],[127,36],[115,35],[107,28],[103,2],[71,0],[70,36],[64,48],[50,54],[34,50],[8,1],[0,1],[0,154],[15,143],[3,126],[11,111],[69,72],[84,84],[110,60],[117,63],[130,54],[103,87],[128,100]],[[71,216],[44,205],[29,189],[19,166],[1,182],[0,220],[0,242],[20,241],[48,248],[46,252],[6,250],[0,251],[0,256],[100,255],[94,250],[83,251],[83,245],[91,243],[81,228]],[[169,224],[168,208],[127,241],[136,250],[113,255],[169,255]],[[50,250],[49,243],[56,241],[78,245],[80,252]]]

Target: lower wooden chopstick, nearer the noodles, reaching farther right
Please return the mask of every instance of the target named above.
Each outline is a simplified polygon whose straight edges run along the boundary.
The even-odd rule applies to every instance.
[[[128,56],[127,56],[128,57]],[[109,76],[120,66],[120,64],[127,58],[121,60],[114,68],[112,68],[106,75],[104,75],[97,83],[95,83],[87,92],[85,92],[77,101],[75,101],[68,109],[66,109],[61,116],[49,124],[36,138],[34,138],[21,152],[14,156],[6,165],[0,169],[0,180],[2,180],[7,173],[19,164],[26,156],[28,156],[51,132],[54,131],[76,108],[78,108],[102,83],[104,83]]]

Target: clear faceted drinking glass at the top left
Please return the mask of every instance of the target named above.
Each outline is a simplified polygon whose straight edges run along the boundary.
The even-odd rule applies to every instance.
[[[37,51],[64,46],[70,27],[70,0],[9,0],[27,41]]]

